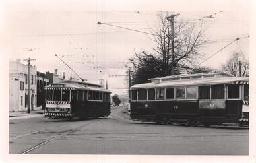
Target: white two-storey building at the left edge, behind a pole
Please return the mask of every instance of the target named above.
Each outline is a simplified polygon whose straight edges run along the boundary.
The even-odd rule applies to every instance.
[[[36,66],[30,67],[30,109],[36,110]],[[9,111],[26,111],[28,99],[28,65],[9,61]]]

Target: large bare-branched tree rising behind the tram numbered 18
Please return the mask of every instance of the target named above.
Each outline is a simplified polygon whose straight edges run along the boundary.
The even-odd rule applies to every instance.
[[[135,51],[135,56],[129,59],[131,65],[135,68],[135,74],[139,72],[139,69],[145,69],[145,66],[154,72],[152,77],[164,77],[171,74],[172,32],[171,22],[166,20],[169,15],[168,12],[158,13],[158,26],[150,27],[152,33],[150,39],[156,42],[156,48],[153,48],[150,52],[141,51],[141,53],[137,53]],[[193,65],[202,57],[199,48],[203,42],[203,33],[202,24],[195,26],[195,24],[188,22],[175,22],[174,73],[176,75],[181,71],[193,69]],[[136,75],[139,75],[139,73]]]

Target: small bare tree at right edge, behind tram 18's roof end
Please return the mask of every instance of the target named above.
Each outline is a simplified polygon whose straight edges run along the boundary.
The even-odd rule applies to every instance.
[[[239,61],[241,63],[239,63]],[[239,64],[241,64],[241,69],[239,72]],[[226,73],[230,73],[234,76],[239,76],[241,73],[241,76],[248,76],[249,75],[249,61],[245,59],[245,55],[242,51],[234,51],[232,52],[232,55],[226,61],[225,64],[221,65],[222,71]]]

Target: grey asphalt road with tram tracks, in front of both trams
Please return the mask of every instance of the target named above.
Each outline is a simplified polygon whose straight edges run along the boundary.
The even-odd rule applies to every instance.
[[[248,155],[249,130],[133,122],[125,108],[109,117],[66,121],[9,119],[10,154]]]

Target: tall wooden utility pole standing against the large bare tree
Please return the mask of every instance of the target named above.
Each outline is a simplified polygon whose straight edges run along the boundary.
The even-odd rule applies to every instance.
[[[175,15],[170,15],[170,16],[168,16],[168,17],[166,17],[166,19],[168,20],[168,21],[170,21],[170,23],[172,24],[172,26],[171,26],[171,30],[172,30],[172,67],[171,67],[171,71],[170,71],[170,73],[171,73],[171,75],[174,75],[174,54],[175,54],[175,51],[174,51],[174,17],[175,16],[179,16],[180,14],[179,13],[177,13],[177,14],[175,14]]]

